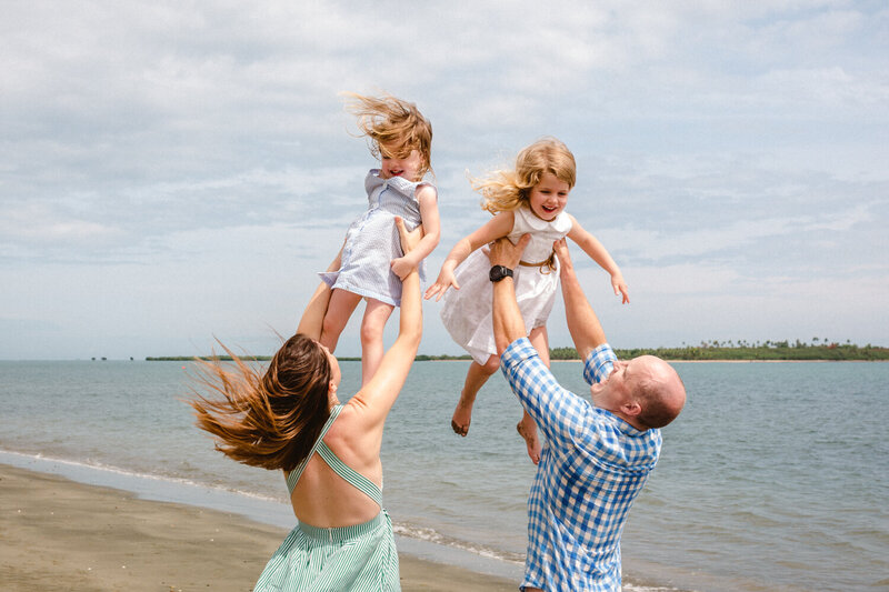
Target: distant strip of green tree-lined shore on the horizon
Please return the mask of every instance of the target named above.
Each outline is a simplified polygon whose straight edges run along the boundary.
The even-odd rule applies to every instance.
[[[878,361],[889,360],[889,348],[878,345],[856,345],[849,343],[845,344],[829,342],[828,340],[812,339],[812,343],[806,343],[800,340],[795,342],[788,341],[766,341],[763,343],[747,343],[739,341],[702,341],[699,345],[686,345],[681,348],[635,348],[616,350],[618,358],[629,359],[637,355],[657,355],[665,360],[676,361]],[[550,358],[553,360],[577,360],[578,354],[575,348],[552,348],[550,349]],[[210,360],[211,357],[201,357],[202,360]],[[219,360],[230,361],[228,355],[220,355]],[[244,360],[254,360],[258,362],[268,361],[268,355],[254,355],[244,358]],[[417,355],[418,362],[427,361],[441,361],[441,360],[469,360],[469,355]],[[163,361],[188,361],[194,360],[193,357],[176,355],[164,358],[146,358],[149,362],[163,362]],[[360,361],[361,358],[339,358],[343,362]]]

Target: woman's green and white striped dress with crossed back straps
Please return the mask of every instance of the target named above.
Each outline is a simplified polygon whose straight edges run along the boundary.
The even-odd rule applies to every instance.
[[[318,452],[333,471],[380,504],[377,518],[339,529],[299,523],[266,564],[254,591],[330,592],[401,590],[392,522],[382,509],[382,492],[347,466],[322,441],[342,410],[334,407],[306,460],[287,476],[292,493],[309,459]]]

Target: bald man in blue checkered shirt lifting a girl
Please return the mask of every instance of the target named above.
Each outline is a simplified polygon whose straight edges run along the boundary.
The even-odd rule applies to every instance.
[[[686,389],[663,360],[619,361],[575,273],[565,240],[560,262],[566,320],[590,398],[559,385],[526,338],[510,270],[527,244],[491,247],[493,331],[500,368],[546,435],[528,499],[528,555],[521,589],[620,590],[620,534],[658,462],[659,428],[682,410]]]

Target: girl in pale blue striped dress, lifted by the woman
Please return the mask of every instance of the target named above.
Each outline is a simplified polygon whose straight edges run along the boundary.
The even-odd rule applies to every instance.
[[[352,222],[342,248],[342,264],[321,273],[330,285],[330,305],[319,341],[330,351],[359,302],[367,301],[361,320],[361,384],[373,377],[383,354],[382,334],[389,315],[401,303],[401,281],[438,245],[438,193],[423,180],[430,170],[432,126],[413,103],[394,97],[349,93],[349,109],[370,140],[380,168],[364,179],[368,211]],[[401,250],[394,218],[408,230],[422,223],[423,238],[411,252]]]

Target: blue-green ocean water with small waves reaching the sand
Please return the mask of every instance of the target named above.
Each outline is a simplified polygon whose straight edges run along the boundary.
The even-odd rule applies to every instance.
[[[339,392],[354,392],[360,364],[341,367]],[[689,400],[625,530],[625,589],[889,590],[889,364],[675,368]],[[383,498],[400,549],[518,579],[535,471],[520,408],[495,375],[455,435],[466,369],[414,364],[387,422]],[[580,370],[553,364],[586,392]],[[281,475],[229,461],[193,427],[191,371],[0,361],[0,462],[291,528]]]

